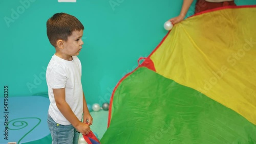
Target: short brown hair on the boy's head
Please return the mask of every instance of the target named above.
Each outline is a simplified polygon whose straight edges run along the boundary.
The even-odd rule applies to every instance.
[[[73,31],[84,30],[82,23],[67,13],[56,13],[46,22],[47,36],[50,43],[56,47],[57,40],[68,40]]]

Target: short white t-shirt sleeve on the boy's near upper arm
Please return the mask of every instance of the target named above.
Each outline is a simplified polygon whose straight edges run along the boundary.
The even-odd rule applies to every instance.
[[[51,88],[65,88],[67,82],[67,74],[65,68],[54,66],[49,71],[47,83]]]

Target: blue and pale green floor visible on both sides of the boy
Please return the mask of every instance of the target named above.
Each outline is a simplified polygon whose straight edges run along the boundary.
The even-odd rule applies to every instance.
[[[47,124],[49,98],[47,96],[26,96],[8,98],[6,108],[0,109],[0,129],[4,137],[0,144],[8,142],[38,143],[37,140],[48,143],[50,131]],[[100,140],[106,131],[109,111],[92,111],[93,125],[91,130]],[[6,127],[8,124],[8,128]],[[50,141],[51,143],[51,141]],[[85,142],[80,142],[84,144]]]

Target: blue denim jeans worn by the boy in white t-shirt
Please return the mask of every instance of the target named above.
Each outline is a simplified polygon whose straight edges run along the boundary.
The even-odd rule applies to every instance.
[[[48,127],[52,136],[52,144],[77,144],[79,132],[72,125],[57,124],[48,114]]]

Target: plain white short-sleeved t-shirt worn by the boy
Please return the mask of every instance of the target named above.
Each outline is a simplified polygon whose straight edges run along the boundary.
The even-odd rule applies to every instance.
[[[71,125],[71,123],[57,108],[53,89],[65,88],[66,102],[69,104],[79,121],[82,119],[83,95],[81,84],[81,62],[76,56],[72,57],[73,60],[68,61],[53,55],[46,70],[46,81],[50,99],[48,112],[53,120],[61,125]]]

